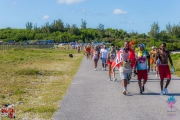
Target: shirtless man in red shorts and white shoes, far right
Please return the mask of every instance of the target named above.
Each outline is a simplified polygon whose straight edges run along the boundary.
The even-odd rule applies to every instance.
[[[162,43],[160,45],[160,51],[156,54],[156,60],[158,60],[158,59],[160,60],[160,64],[158,67],[159,76],[160,76],[160,87],[161,87],[160,95],[163,95],[164,93],[168,94],[167,87],[171,81],[171,73],[170,73],[170,69],[169,69],[169,65],[168,65],[168,59],[169,59],[169,62],[171,64],[172,68],[174,68],[174,67],[173,67],[173,62],[172,62],[170,53],[168,50],[166,50],[166,43]],[[166,81],[166,85],[163,89],[164,78],[167,78],[167,81]]]

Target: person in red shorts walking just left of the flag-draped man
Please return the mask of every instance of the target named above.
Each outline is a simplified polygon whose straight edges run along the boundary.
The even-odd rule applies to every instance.
[[[109,74],[109,81],[112,81],[111,80],[111,65],[112,65],[112,62],[114,61],[114,59],[116,58],[116,50],[114,48],[114,46],[111,46],[111,51],[108,52],[108,74]],[[113,70],[114,71],[114,70]],[[113,81],[115,81],[116,78],[115,78],[115,72],[113,72]]]

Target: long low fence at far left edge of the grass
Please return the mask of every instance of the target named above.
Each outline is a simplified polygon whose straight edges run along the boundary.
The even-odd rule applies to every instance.
[[[0,50],[9,50],[12,48],[54,48],[53,44],[49,45],[0,45]]]

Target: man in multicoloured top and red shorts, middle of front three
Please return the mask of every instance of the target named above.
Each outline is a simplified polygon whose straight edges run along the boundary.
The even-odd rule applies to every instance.
[[[150,55],[145,50],[144,44],[139,44],[139,51],[137,53],[137,61],[135,68],[137,68],[137,71],[135,69],[134,73],[137,74],[140,94],[142,94],[144,92],[144,86],[148,79],[148,72],[150,71]],[[141,83],[142,79],[144,79],[143,83]]]

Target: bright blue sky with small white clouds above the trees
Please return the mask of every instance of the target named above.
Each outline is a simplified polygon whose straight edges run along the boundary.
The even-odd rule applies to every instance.
[[[61,19],[64,24],[81,20],[87,28],[123,29],[147,34],[158,22],[160,30],[166,25],[179,24],[180,0],[0,0],[0,29],[26,28],[27,22],[38,27]]]

